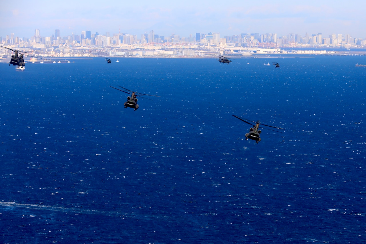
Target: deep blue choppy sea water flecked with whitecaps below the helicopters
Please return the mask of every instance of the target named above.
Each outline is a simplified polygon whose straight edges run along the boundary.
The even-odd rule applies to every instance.
[[[365,56],[114,61],[0,63],[1,243],[366,241]]]

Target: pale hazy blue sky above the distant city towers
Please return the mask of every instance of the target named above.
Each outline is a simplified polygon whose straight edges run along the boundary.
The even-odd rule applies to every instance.
[[[30,38],[71,33],[128,33],[141,37],[154,30],[160,36],[180,37],[196,32],[351,34],[366,38],[365,0],[0,0],[0,36],[14,33]]]

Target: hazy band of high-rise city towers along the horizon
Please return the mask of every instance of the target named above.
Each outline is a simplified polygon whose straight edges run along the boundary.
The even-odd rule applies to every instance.
[[[107,38],[107,39],[106,39]],[[98,39],[98,40],[97,40]],[[257,45],[269,45],[273,47],[273,44],[277,47],[283,47],[285,45],[292,44],[311,44],[311,45],[324,45],[330,47],[356,47],[355,45],[366,45],[366,39],[352,37],[350,34],[331,34],[329,36],[325,36],[322,33],[311,34],[305,33],[305,35],[289,33],[285,36],[277,36],[277,33],[240,33],[232,36],[220,36],[218,32],[209,32],[209,33],[195,33],[190,34],[189,37],[181,37],[179,34],[174,34],[172,36],[160,36],[155,33],[154,30],[150,30],[149,33],[143,33],[140,35],[132,35],[127,33],[92,33],[90,30],[82,31],[80,34],[71,33],[71,35],[61,35],[60,30],[55,29],[54,34],[51,36],[41,35],[41,31],[39,29],[34,30],[34,34],[32,37],[18,37],[15,36],[14,33],[10,35],[6,35],[5,37],[0,36],[0,44],[10,44],[24,45],[28,43],[28,45],[38,45],[38,44],[47,44],[44,47],[57,46],[60,44],[68,44],[68,45],[76,45],[76,46],[88,46],[88,45],[96,45],[96,46],[119,46],[123,44],[144,44],[153,42],[154,45],[160,45],[165,42],[176,42],[176,43],[184,43],[184,42],[200,42],[202,43],[211,43],[214,45],[222,45],[226,43],[238,44],[244,46],[257,46]],[[30,44],[33,43],[33,44]],[[249,45],[248,45],[249,44]],[[267,46],[267,47],[269,47]],[[40,46],[38,46],[40,47]]]

